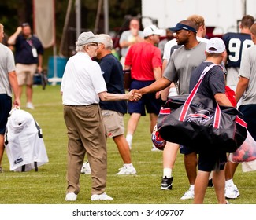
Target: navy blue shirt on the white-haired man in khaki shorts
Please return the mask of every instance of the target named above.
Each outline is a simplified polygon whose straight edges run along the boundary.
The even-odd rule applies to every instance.
[[[108,93],[124,94],[124,74],[121,63],[112,54],[108,54],[99,62],[102,75],[106,82]],[[125,114],[127,101],[100,101],[99,105],[104,110],[112,110]]]

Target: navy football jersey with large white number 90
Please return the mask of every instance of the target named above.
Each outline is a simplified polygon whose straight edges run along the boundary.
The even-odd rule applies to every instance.
[[[239,68],[244,49],[254,45],[250,35],[242,33],[227,33],[223,35],[222,39],[228,53],[226,66],[228,68]]]

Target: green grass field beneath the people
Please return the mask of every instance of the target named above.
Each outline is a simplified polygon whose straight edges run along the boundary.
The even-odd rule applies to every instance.
[[[49,163],[39,167],[39,171],[9,171],[9,161],[4,154],[0,174],[1,204],[65,204],[65,170],[67,136],[63,119],[60,86],[41,86],[34,88],[35,110],[24,108],[22,97],[21,109],[32,113],[43,129],[43,140],[49,157]],[[125,116],[127,123],[128,116]],[[108,178],[106,192],[113,201],[91,202],[91,177],[81,174],[80,194],[75,204],[191,204],[192,200],[180,200],[189,184],[184,170],[183,156],[178,153],[173,170],[173,190],[160,190],[162,175],[162,152],[151,152],[149,118],[143,117],[135,133],[132,145],[132,163],[137,175],[117,176],[122,166],[121,156],[112,139],[108,139]],[[243,173],[241,166],[234,178],[241,196],[231,200],[234,204],[256,204],[256,172]],[[214,189],[207,189],[205,203],[217,203]]]

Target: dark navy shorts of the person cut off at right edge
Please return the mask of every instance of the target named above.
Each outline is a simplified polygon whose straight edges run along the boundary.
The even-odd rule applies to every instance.
[[[247,130],[256,141],[256,105],[240,105],[239,111],[243,113],[247,123]]]

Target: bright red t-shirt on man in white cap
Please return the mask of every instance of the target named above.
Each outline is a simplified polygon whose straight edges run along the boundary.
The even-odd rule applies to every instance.
[[[149,42],[139,42],[128,49],[125,65],[132,66],[131,77],[139,81],[154,79],[154,68],[161,67],[161,51]]]

